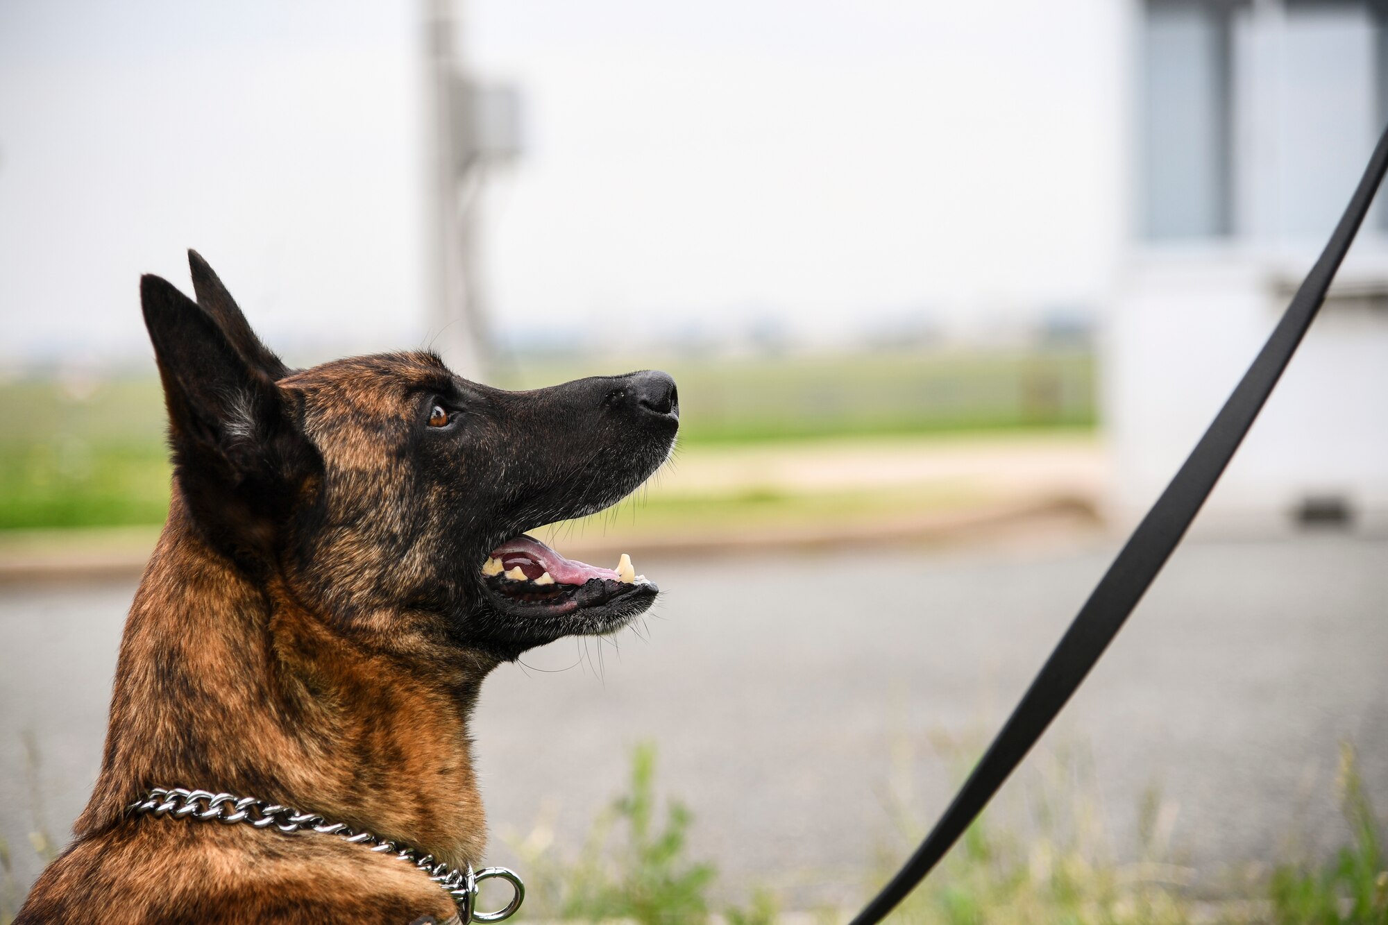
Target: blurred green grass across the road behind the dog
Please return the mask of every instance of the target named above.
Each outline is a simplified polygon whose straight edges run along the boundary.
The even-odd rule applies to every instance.
[[[530,358],[501,379],[530,388],[638,365],[661,365],[676,376],[680,439],[690,451],[806,438],[1090,428],[1095,415],[1094,361],[1074,351],[675,362]],[[0,386],[0,529],[160,524],[168,511],[168,479],[157,379]],[[826,508],[845,512],[874,503],[863,493],[805,499],[756,492],[763,496],[658,499],[651,517],[695,525],[726,522],[729,512],[752,521],[812,519]]]

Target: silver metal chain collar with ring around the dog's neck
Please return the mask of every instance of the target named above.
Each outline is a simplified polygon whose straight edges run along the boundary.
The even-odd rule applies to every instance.
[[[433,854],[421,854],[418,849],[408,847],[400,842],[389,842],[371,832],[354,829],[343,822],[328,822],[314,812],[300,812],[298,810],[266,803],[255,797],[237,797],[230,793],[212,793],[211,790],[185,790],[183,788],[150,788],[142,800],[136,800],[129,807],[130,812],[150,815],[172,815],[180,819],[201,819],[204,822],[223,822],[235,825],[244,822],[257,829],[273,828],[286,835],[311,829],[322,835],[336,835],[353,844],[365,844],[372,851],[391,854],[403,861],[409,861],[429,875],[429,879],[443,888],[458,906],[458,915],[462,925],[469,922],[500,922],[511,918],[525,900],[525,883],[515,872],[504,867],[489,867],[473,872],[472,865],[466,871],[455,871],[443,861],[436,861]],[[473,907],[477,899],[477,886],[482,881],[500,878],[511,883],[515,890],[505,908],[496,912],[477,912]]]

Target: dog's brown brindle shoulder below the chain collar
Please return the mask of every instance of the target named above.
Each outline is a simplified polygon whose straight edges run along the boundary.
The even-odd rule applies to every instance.
[[[330,836],[164,819],[79,839],[44,869],[15,925],[454,921],[415,867]]]

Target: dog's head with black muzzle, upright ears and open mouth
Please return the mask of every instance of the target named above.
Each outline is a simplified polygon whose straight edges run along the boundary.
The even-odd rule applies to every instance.
[[[175,490],[205,540],[305,608],[500,658],[613,631],[658,593],[526,536],[615,504],[669,456],[662,372],[504,392],[433,354],[289,369],[190,253],[197,301],[142,281]]]

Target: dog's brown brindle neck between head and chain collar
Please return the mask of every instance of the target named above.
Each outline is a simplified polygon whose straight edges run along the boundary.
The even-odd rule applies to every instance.
[[[101,774],[75,831],[115,824],[151,786],[183,786],[476,864],[484,817],[466,726],[490,667],[346,636],[214,551],[175,496],[126,621]]]

